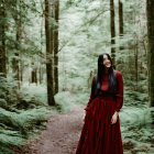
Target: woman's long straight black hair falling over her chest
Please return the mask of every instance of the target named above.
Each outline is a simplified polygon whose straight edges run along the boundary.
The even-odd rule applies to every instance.
[[[98,95],[98,92],[101,90],[101,85],[103,84],[102,82],[102,78],[105,75],[103,55],[107,55],[108,59],[111,62],[111,66],[108,69],[109,88],[107,92],[114,95],[116,94],[116,73],[113,69],[112,59],[108,53],[100,54],[98,57],[98,72],[96,75],[95,95]]]

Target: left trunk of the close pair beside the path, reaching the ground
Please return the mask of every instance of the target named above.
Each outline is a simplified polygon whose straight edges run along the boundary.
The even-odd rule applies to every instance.
[[[50,6],[48,0],[45,0],[45,36],[46,36],[46,77],[47,77],[47,101],[50,106],[55,105],[53,82],[52,82],[52,63],[48,55],[51,55],[50,50]]]

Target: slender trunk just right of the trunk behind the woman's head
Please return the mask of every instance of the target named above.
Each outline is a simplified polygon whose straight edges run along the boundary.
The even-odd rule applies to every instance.
[[[119,36],[123,37],[123,3],[119,0]],[[123,50],[123,46],[120,45],[120,50]]]

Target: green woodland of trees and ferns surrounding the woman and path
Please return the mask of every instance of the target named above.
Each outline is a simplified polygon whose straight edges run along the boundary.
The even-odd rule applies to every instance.
[[[154,153],[153,0],[0,1],[0,153],[13,153],[51,114],[86,106],[97,59],[124,81],[129,147]]]

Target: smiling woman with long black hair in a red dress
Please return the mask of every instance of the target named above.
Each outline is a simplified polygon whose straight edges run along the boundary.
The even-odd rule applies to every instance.
[[[123,106],[123,78],[109,54],[98,58],[85,123],[76,154],[123,154],[119,112]]]

